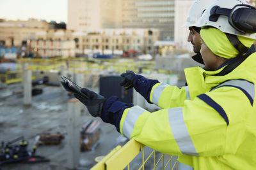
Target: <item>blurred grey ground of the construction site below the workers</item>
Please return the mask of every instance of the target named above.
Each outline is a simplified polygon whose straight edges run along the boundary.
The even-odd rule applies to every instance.
[[[39,85],[38,88],[43,89],[43,93],[33,96],[31,106],[24,106],[22,93],[13,94],[22,90],[21,83],[0,89],[0,141],[12,141],[24,136],[29,141],[28,148],[32,148],[35,136],[41,133],[61,132],[67,137],[67,110],[70,97],[61,87]],[[96,163],[95,157],[108,154],[118,145],[116,138],[120,134],[116,128],[102,122],[100,118],[93,118],[86,114],[86,111],[81,113],[81,126],[92,119],[101,122],[100,143],[95,150],[81,152],[77,169],[90,169]],[[67,138],[63,139],[60,145],[38,146],[36,155],[44,156],[50,159],[50,162],[6,164],[0,166],[0,169],[67,169],[66,144]]]

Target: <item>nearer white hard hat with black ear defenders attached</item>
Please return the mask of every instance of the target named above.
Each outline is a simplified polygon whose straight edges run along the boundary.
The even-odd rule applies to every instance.
[[[195,27],[204,26],[256,39],[256,8],[245,0],[216,0],[195,24]]]

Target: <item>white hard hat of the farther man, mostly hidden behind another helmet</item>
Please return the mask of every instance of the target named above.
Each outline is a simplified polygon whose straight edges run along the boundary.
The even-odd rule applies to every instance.
[[[196,0],[189,8],[186,24],[182,27],[193,27],[202,16],[206,8],[216,0]]]

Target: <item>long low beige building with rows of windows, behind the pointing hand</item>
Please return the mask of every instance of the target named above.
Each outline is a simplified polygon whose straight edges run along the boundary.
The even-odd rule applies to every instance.
[[[134,50],[154,53],[157,29],[102,29],[96,32],[74,32],[76,52],[80,54],[122,54]]]

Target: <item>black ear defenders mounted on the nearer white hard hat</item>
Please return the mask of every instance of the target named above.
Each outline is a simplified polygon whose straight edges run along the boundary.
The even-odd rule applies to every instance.
[[[256,8],[248,4],[237,4],[232,9],[213,6],[209,20],[216,22],[220,15],[228,17],[228,23],[237,31],[246,34],[256,32]]]

